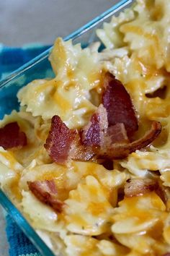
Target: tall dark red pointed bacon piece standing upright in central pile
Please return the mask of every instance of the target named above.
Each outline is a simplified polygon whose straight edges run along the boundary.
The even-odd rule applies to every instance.
[[[109,72],[104,76],[104,88],[102,103],[107,110],[109,126],[117,123],[125,124],[128,137],[132,136],[138,130],[138,119],[129,93]]]

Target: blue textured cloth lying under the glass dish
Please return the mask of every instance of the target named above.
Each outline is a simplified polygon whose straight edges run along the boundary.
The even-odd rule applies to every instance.
[[[0,45],[0,80],[49,47],[36,44],[23,48],[9,48]],[[9,216],[6,216],[6,235],[10,256],[40,256],[34,245]]]

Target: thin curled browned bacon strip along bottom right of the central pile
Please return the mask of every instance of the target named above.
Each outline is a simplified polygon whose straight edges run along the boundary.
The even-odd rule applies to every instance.
[[[151,124],[151,129],[146,132],[139,140],[135,140],[128,144],[123,143],[113,143],[111,140],[107,140],[104,142],[103,146],[99,149],[97,154],[102,158],[108,159],[122,159],[127,157],[130,153],[135,152],[135,150],[140,150],[141,148],[145,148],[153,140],[158,137],[161,132],[161,124],[158,121],[153,121]]]

